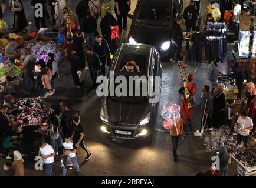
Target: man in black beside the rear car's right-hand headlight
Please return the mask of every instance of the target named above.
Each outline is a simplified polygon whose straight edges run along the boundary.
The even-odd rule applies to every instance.
[[[177,52],[177,60],[179,60],[180,53],[181,53],[181,47],[182,47],[182,41],[185,39],[185,36],[182,34],[182,30],[180,25],[182,24],[182,18],[179,17],[176,19],[176,21],[172,25],[171,29],[171,38],[172,38],[172,50],[171,50],[171,58],[170,61],[175,62],[174,56],[175,52]]]

